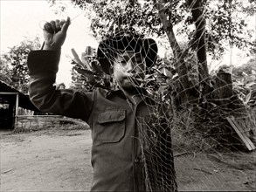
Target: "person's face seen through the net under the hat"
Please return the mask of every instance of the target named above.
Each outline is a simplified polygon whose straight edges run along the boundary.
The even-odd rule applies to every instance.
[[[114,79],[125,90],[140,86],[145,78],[146,64],[140,53],[124,51],[114,60]]]

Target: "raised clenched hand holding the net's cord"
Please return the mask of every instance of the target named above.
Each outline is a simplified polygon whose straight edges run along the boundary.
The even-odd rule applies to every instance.
[[[70,24],[70,17],[66,20],[56,19],[55,21],[50,21],[50,23],[45,23],[44,25],[44,38],[45,45],[44,50],[58,50],[64,44],[66,39],[66,31]]]

